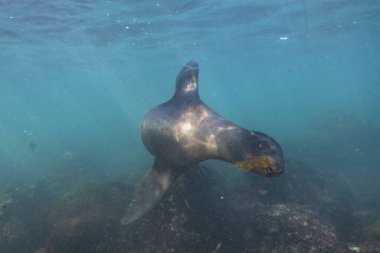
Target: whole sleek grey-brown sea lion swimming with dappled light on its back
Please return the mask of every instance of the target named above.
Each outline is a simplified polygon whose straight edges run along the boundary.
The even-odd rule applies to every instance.
[[[123,225],[150,210],[180,174],[202,161],[218,159],[264,176],[283,171],[282,149],[274,139],[227,121],[202,102],[198,72],[194,61],[184,66],[173,97],[143,119],[142,141],[155,159],[133,194]]]

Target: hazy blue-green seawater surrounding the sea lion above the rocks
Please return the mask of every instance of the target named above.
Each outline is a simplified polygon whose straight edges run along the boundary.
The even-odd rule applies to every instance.
[[[0,0],[0,246],[26,240],[4,252],[70,252],[46,246],[54,240],[46,239],[51,229],[38,210],[57,210],[46,207],[78,185],[135,187],[153,162],[140,139],[141,121],[173,95],[176,75],[190,60],[200,66],[201,99],[228,120],[274,137],[285,155],[286,172],[273,179],[206,163],[218,171],[216,184],[224,182],[220,189],[234,201],[253,191],[252,201],[263,205],[313,205],[315,198],[346,250],[380,244],[379,24],[376,0]],[[292,187],[273,192],[284,182]],[[310,202],[297,195],[303,190]],[[349,211],[328,211],[336,205]],[[334,223],[339,216],[345,218]],[[16,232],[4,225],[20,220]],[[35,224],[42,231],[31,233]],[[272,232],[266,238],[275,238]],[[71,249],[119,252],[109,248],[118,244],[120,252],[169,252],[134,251],[126,240],[115,241]],[[188,252],[268,252],[241,241],[239,251],[237,243],[191,242],[196,250]],[[176,247],[170,249],[184,252]],[[272,252],[318,252],[294,247]]]

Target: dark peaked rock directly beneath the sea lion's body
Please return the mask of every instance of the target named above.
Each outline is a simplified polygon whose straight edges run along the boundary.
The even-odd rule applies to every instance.
[[[120,252],[212,252],[228,210],[204,168],[188,171],[147,215],[123,227]],[[217,210],[219,209],[219,210]]]

